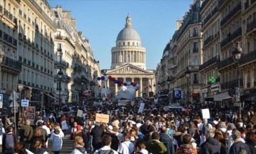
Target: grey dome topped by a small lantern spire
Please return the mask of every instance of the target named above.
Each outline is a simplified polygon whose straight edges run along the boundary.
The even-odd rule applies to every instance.
[[[125,28],[123,28],[117,35],[117,41],[122,40],[140,41],[139,33],[137,33],[135,29],[133,29],[131,25],[131,17],[129,15],[126,17]]]

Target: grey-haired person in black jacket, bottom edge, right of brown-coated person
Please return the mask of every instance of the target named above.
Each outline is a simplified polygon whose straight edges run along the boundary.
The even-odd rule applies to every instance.
[[[205,133],[205,142],[201,144],[200,153],[214,154],[220,153],[220,144],[217,139],[214,139],[214,129],[208,129]]]

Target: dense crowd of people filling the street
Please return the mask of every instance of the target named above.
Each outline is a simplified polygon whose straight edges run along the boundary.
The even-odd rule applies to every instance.
[[[17,133],[11,117],[5,117],[0,123],[3,153],[59,154],[64,134],[73,141],[72,154],[256,153],[253,106],[236,114],[214,103],[180,103],[185,110],[170,110],[143,100],[143,111],[138,112],[141,100],[126,104],[116,99],[95,102],[75,102],[61,110],[56,106],[40,108],[33,124],[20,117]],[[202,108],[209,108],[210,119],[203,118]],[[83,111],[79,117],[77,110]],[[96,121],[96,114],[108,114],[109,122]],[[51,151],[49,140],[53,141]]]

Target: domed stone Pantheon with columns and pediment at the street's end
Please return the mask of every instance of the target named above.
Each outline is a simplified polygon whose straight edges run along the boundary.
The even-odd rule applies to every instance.
[[[106,76],[140,85],[136,96],[152,96],[156,92],[155,70],[146,69],[146,48],[141,44],[139,33],[133,29],[127,15],[125,27],[117,35],[116,46],[111,49],[111,68],[103,70]],[[120,87],[108,80],[106,86],[115,94]]]

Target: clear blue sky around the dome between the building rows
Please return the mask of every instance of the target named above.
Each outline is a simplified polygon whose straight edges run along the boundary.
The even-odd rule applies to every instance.
[[[125,27],[128,13],[133,28],[146,48],[146,67],[156,70],[166,44],[177,29],[193,0],[48,0],[51,7],[61,5],[76,19],[77,31],[83,31],[100,61],[100,69],[110,69],[111,48]]]

